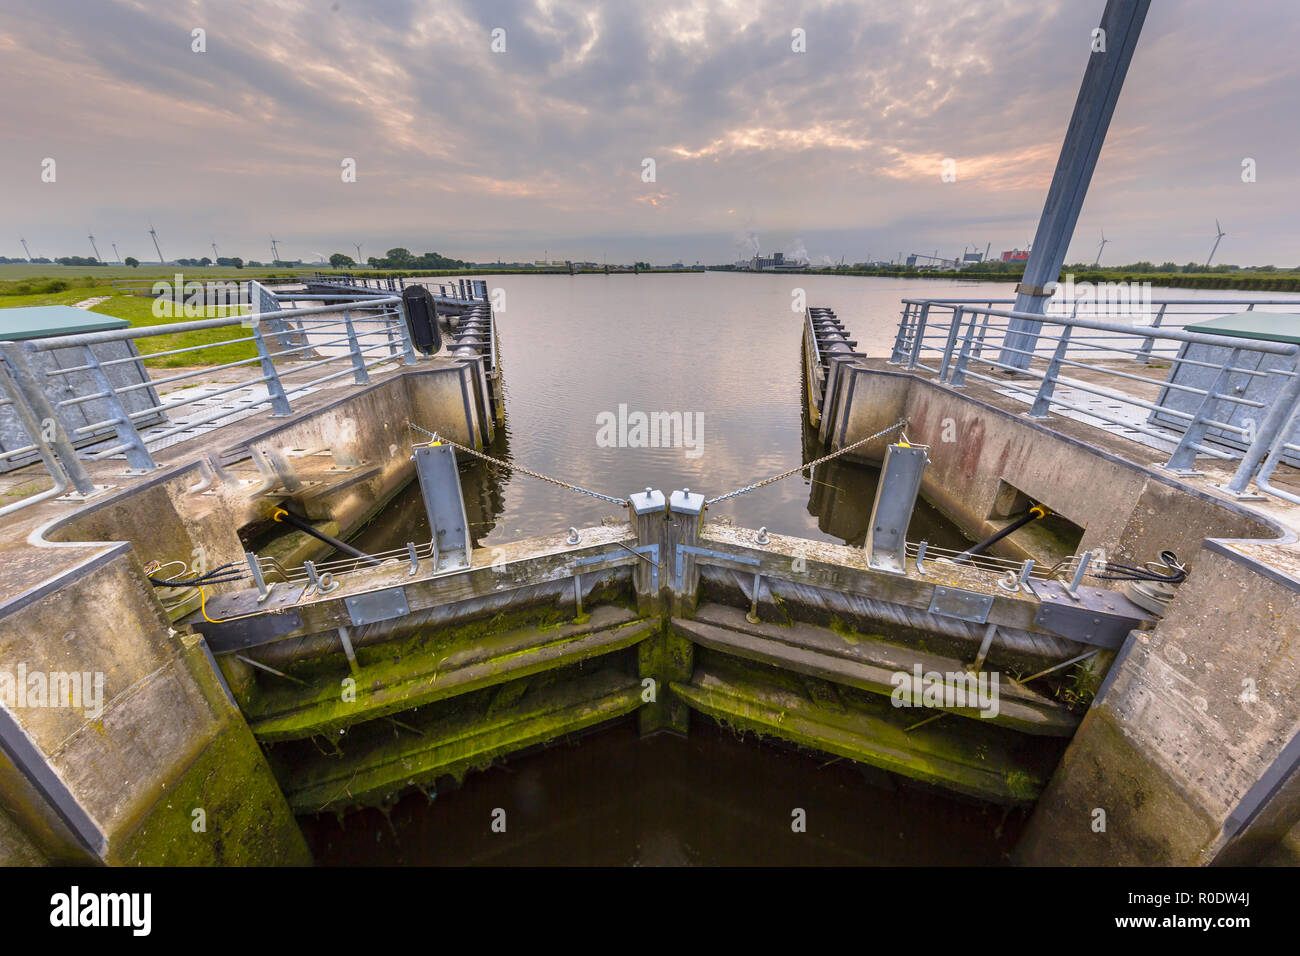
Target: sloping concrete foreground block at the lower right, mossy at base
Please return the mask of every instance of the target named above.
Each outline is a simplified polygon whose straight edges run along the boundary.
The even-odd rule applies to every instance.
[[[1023,861],[1208,864],[1248,835],[1231,818],[1300,731],[1300,583],[1261,580],[1206,550],[1179,591],[1084,717],[1018,848]],[[1297,813],[1292,792],[1258,821],[1257,852]]]

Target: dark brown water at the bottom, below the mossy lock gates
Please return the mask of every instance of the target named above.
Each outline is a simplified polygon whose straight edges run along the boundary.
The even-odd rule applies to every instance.
[[[493,812],[506,832],[493,832]],[[807,831],[790,827],[793,808]],[[1023,810],[963,800],[693,718],[619,723],[471,774],[389,813],[303,819],[321,865],[997,865]]]

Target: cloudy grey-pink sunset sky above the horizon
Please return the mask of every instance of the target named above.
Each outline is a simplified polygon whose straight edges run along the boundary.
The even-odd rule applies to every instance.
[[[0,255],[997,255],[1104,5],[5,0]],[[1152,4],[1067,261],[1300,264],[1297,14]]]

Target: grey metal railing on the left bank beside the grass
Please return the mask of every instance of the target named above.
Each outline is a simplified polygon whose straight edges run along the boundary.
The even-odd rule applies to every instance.
[[[143,354],[134,347],[214,329],[247,334]],[[247,355],[230,358],[231,349]],[[224,350],[221,360],[207,360],[213,350]],[[155,375],[157,363],[174,356],[185,356],[185,367]],[[82,459],[124,457],[127,473],[142,473],[157,467],[153,451],[162,444],[268,410],[286,416],[296,397],[329,382],[351,377],[365,385],[376,365],[415,362],[396,297],[0,343],[0,460],[35,454],[55,483],[0,515],[64,494],[69,485],[94,493]],[[233,369],[250,375],[204,384]],[[42,477],[26,471],[18,473],[26,481]]]

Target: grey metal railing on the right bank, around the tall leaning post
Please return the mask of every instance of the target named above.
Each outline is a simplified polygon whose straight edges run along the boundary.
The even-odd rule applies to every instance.
[[[1297,501],[1270,477],[1283,455],[1300,453],[1287,441],[1300,424],[1300,346],[1182,328],[1193,317],[1258,306],[1295,308],[1295,299],[1152,302],[1136,323],[1132,313],[1040,316],[996,307],[1001,304],[904,299],[890,363],[953,388],[968,378],[987,382],[1028,403],[1030,418],[1062,415],[1128,438],[1141,436],[1160,450],[1171,446],[1165,467],[1175,472],[1195,473],[1199,455],[1240,458],[1223,490],[1244,497],[1258,472],[1261,490]],[[1018,319],[1040,323],[1028,342],[1009,334]],[[1165,368],[1158,377],[1148,371]]]

